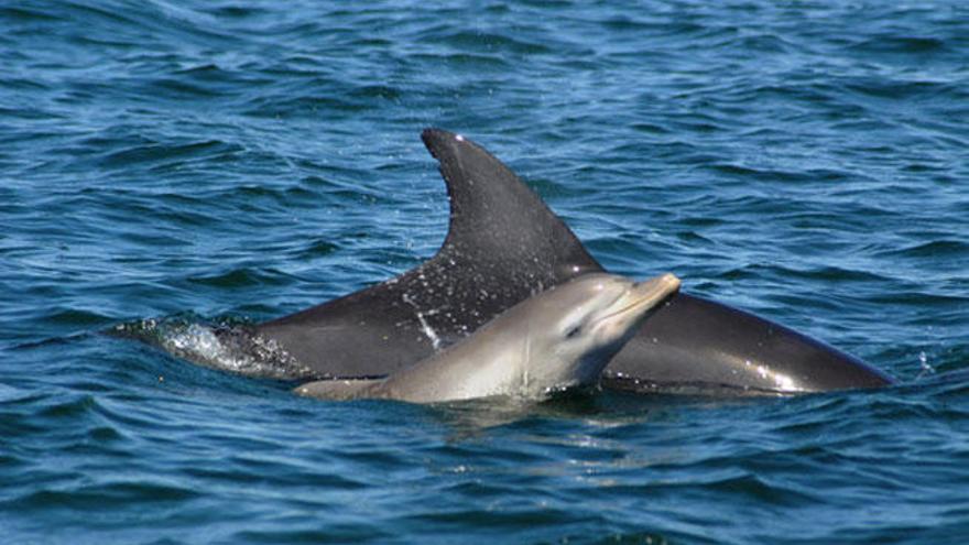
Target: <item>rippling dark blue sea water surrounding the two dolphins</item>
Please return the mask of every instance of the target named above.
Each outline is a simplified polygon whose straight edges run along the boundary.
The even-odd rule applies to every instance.
[[[965,2],[10,2],[0,66],[4,544],[969,536]],[[99,333],[420,263],[426,126],[901,384],[338,404]]]

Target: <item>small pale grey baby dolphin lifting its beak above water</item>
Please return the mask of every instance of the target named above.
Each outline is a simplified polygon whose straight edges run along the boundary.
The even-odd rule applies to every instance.
[[[322,380],[295,392],[340,401],[541,400],[595,384],[646,317],[677,290],[679,279],[668,273],[643,282],[586,274],[519,303],[470,337],[385,379]]]

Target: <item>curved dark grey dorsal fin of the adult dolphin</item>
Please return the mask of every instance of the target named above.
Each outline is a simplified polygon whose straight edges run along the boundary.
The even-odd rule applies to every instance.
[[[436,260],[518,263],[536,280],[600,271],[571,230],[501,161],[470,140],[425,129],[424,145],[440,163],[450,199],[447,238]]]

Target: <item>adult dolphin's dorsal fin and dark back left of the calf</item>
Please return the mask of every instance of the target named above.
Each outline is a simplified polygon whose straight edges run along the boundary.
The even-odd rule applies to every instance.
[[[412,366],[519,302],[602,270],[484,149],[438,129],[422,139],[440,162],[450,200],[437,253],[386,282],[257,327],[323,377],[382,375]]]

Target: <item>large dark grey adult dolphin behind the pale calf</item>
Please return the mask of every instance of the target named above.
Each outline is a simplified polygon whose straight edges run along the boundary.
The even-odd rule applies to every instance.
[[[425,130],[422,139],[440,163],[450,199],[448,233],[437,254],[382,284],[255,326],[319,377],[396,372],[536,293],[603,271],[542,199],[483,148],[438,129]],[[820,341],[682,292],[602,375],[607,388],[636,391],[688,385],[817,392],[890,383]]]

